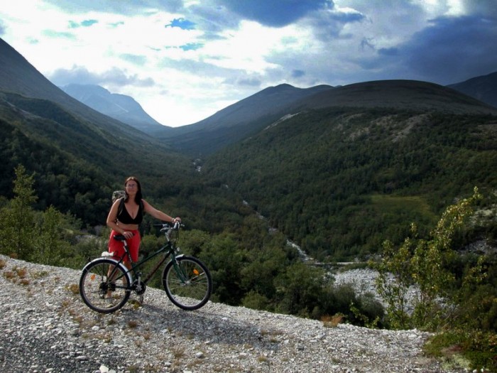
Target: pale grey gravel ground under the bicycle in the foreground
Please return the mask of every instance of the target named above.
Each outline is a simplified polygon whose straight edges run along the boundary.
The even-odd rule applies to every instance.
[[[148,288],[102,315],[80,272],[0,256],[0,372],[463,372],[422,354],[429,333],[328,328],[221,303],[184,311]],[[215,285],[214,285],[215,286]]]

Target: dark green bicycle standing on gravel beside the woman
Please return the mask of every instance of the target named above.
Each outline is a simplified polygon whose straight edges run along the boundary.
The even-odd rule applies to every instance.
[[[126,239],[122,234],[116,234],[113,239],[124,243],[125,254],[116,258],[113,254],[104,252],[102,257],[89,261],[81,274],[80,295],[84,303],[99,313],[112,313],[123,307],[134,291],[143,296],[146,284],[159,267],[168,259],[162,274],[162,283],[170,301],[183,310],[197,310],[209,301],[212,294],[212,277],[207,266],[194,256],[178,254],[180,251],[176,243],[179,239],[180,223],[155,224],[161,227],[160,232],[165,234],[165,245],[138,261],[128,269],[124,265],[127,257],[131,261]],[[175,239],[171,234],[177,232]],[[151,273],[142,279],[141,272],[137,271],[144,263],[160,254],[165,255],[153,267]]]

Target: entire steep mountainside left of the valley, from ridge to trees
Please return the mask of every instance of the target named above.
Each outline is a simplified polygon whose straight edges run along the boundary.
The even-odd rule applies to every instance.
[[[185,180],[187,158],[128,124],[70,97],[0,39],[0,195],[12,196],[14,168],[35,173],[37,208],[54,205],[102,224],[116,182],[129,175]]]

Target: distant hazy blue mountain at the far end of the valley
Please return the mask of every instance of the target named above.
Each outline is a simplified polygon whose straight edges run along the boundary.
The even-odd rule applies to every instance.
[[[70,84],[60,89],[97,112],[129,124],[145,133],[150,133],[158,126],[162,126],[148,115],[133,97],[111,93],[99,85]]]

